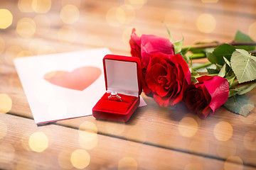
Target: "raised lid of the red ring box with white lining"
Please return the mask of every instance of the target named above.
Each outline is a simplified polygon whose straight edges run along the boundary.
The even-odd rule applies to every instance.
[[[107,91],[137,97],[142,94],[142,74],[138,57],[106,55],[103,66]]]

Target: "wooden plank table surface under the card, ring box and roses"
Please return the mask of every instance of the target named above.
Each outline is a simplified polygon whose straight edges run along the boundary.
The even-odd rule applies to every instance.
[[[201,120],[142,93],[148,106],[128,123],[87,116],[38,126],[12,62],[97,47],[130,55],[132,28],[168,38],[161,21],[185,45],[229,42],[237,30],[256,40],[255,0],[9,0],[0,8],[13,16],[0,30],[0,169],[256,169],[255,109],[244,118],[220,108]],[[249,96],[256,102],[255,90]]]

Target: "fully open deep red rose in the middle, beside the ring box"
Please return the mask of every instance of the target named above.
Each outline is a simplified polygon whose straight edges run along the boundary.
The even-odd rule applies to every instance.
[[[158,52],[150,55],[145,82],[160,106],[174,105],[183,99],[191,83],[191,72],[181,55]]]

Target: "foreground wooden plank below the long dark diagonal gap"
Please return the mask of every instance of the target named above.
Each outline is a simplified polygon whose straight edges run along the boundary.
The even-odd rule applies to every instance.
[[[87,123],[83,130],[58,125],[38,127],[33,120],[0,114],[0,168],[223,169],[230,166],[253,169],[235,159],[223,162],[97,135],[95,125]]]

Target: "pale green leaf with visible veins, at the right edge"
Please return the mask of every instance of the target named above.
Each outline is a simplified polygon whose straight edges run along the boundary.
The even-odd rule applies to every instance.
[[[256,57],[250,55],[247,51],[235,50],[230,64],[239,83],[256,79]]]

